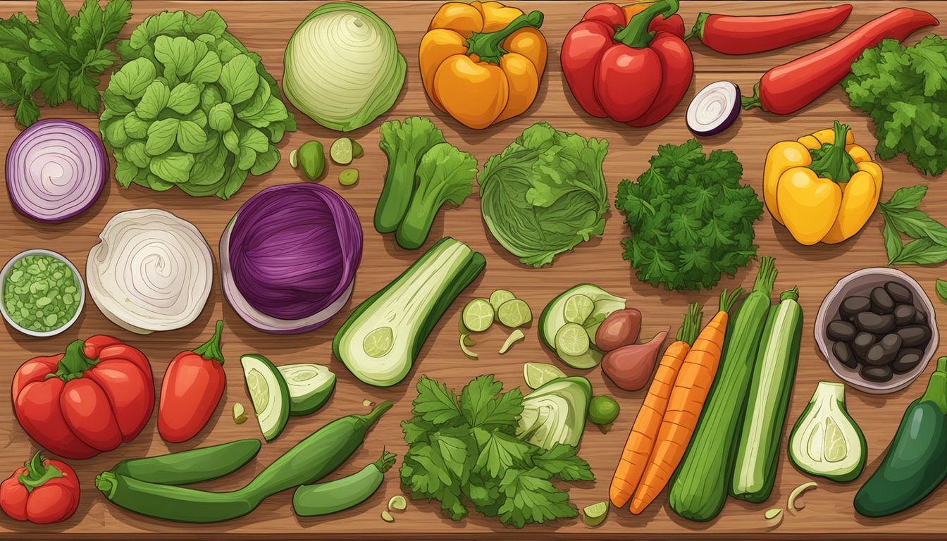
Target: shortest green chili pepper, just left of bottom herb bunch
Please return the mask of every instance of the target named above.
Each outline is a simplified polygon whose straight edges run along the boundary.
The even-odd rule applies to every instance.
[[[332,514],[355,507],[382,486],[384,473],[395,465],[394,453],[382,450],[382,458],[348,477],[314,485],[303,485],[293,494],[293,511],[300,516]]]

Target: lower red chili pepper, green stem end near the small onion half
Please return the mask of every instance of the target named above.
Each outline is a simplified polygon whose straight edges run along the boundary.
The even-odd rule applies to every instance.
[[[889,11],[832,45],[767,71],[753,88],[753,97],[742,99],[743,109],[795,113],[842,81],[866,49],[888,38],[900,42],[920,28],[938,24],[934,15],[920,9]]]

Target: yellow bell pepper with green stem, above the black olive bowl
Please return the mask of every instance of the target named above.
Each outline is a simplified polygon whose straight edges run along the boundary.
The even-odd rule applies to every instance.
[[[801,244],[841,243],[865,226],[882,193],[882,168],[849,126],[780,141],[763,166],[763,200]]]

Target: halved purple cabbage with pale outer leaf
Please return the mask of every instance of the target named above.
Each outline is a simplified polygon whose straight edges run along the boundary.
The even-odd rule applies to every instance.
[[[351,296],[362,225],[341,195],[319,184],[263,189],[223,230],[223,294],[264,333],[305,333]]]

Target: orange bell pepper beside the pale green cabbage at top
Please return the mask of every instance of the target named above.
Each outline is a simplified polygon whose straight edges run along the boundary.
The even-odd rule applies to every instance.
[[[539,91],[547,54],[543,13],[498,2],[448,2],[420,42],[428,98],[480,130],[521,115]]]

